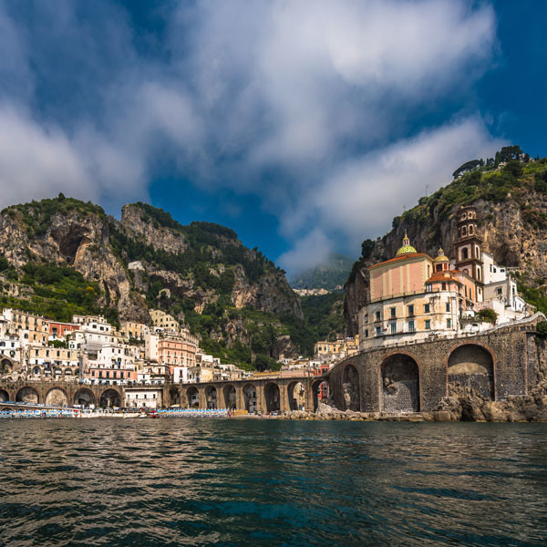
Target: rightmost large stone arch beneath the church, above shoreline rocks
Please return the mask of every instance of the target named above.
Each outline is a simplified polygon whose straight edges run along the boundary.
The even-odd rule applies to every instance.
[[[474,391],[494,399],[494,357],[489,348],[479,344],[461,344],[447,359],[449,395]]]

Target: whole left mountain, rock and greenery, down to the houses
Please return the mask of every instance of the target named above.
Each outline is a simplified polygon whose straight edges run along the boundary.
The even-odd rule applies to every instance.
[[[54,273],[58,288],[73,268],[89,284],[79,290],[95,298],[72,294],[74,302],[65,303],[71,306],[66,313],[81,308],[148,322],[149,309],[160,307],[201,335],[213,352],[228,352],[225,357],[243,340],[249,365],[259,353],[276,353],[277,339],[284,340],[287,330],[280,318],[303,319],[300,300],[284,272],[258,250],[244,247],[235,232],[205,222],[182,226],[169,213],[144,203],[125,205],[121,221],[97,205],[62,195],[8,207],[0,212],[0,255],[4,305],[32,309],[33,302],[51,299],[48,275]],[[137,268],[129,269],[132,262],[139,263]],[[29,274],[36,265],[57,270],[41,271],[44,279],[36,280]],[[32,297],[17,301],[14,294],[22,291],[15,285],[28,285],[26,294]],[[265,326],[271,328],[259,344]]]

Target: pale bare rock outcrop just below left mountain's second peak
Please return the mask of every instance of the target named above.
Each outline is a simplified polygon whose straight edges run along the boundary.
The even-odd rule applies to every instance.
[[[182,233],[150,222],[142,209],[134,203],[121,208],[121,226],[131,237],[140,237],[147,245],[167,253],[184,253],[188,247],[188,241]]]

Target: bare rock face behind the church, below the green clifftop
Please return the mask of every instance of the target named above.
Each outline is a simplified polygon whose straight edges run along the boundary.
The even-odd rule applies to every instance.
[[[509,194],[499,203],[481,199],[470,204],[477,208],[484,251],[493,255],[501,265],[521,269],[534,284],[544,284],[547,280],[547,231],[541,223],[533,222],[531,211],[547,214],[545,194],[529,191],[524,197],[521,195],[519,201]],[[377,239],[366,257],[360,257],[346,283],[346,322],[350,334],[356,333],[357,312],[365,304],[366,268],[393,258],[405,231],[418,253],[436,256],[442,247],[447,256],[454,256],[453,240],[457,233],[459,207],[455,205],[442,218],[437,207],[428,208],[420,215],[412,214],[415,210],[411,210],[403,215],[397,227]]]

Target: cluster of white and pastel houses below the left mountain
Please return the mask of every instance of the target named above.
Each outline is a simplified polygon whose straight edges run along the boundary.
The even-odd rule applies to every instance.
[[[0,315],[0,377],[154,386],[242,379],[250,373],[204,354],[199,339],[171,315],[151,310],[151,325],[99,315],[70,323],[6,308]]]

